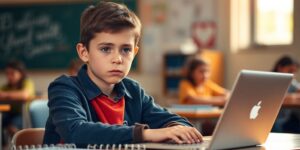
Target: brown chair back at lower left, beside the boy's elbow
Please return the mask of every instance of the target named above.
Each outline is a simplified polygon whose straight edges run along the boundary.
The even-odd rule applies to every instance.
[[[18,131],[12,138],[12,146],[42,145],[45,128],[27,128]]]

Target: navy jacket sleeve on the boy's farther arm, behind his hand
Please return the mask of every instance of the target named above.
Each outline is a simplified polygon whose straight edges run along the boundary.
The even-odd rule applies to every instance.
[[[154,99],[147,95],[143,89],[140,89],[140,93],[142,100],[142,120],[148,124],[150,128],[162,128],[175,124],[193,126],[186,119],[170,113],[165,108],[157,105]]]

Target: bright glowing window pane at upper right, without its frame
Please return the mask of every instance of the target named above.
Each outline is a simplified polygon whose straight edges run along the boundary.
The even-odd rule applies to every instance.
[[[256,0],[254,6],[254,44],[292,44],[293,0]]]

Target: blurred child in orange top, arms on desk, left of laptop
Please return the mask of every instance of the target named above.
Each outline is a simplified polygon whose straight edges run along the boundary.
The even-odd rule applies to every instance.
[[[185,79],[179,85],[181,104],[223,105],[227,90],[209,79],[209,65],[200,57],[187,61]]]

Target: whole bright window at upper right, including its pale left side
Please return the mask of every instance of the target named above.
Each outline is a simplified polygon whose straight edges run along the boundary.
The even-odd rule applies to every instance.
[[[294,44],[294,0],[231,0],[230,47],[290,49]]]

